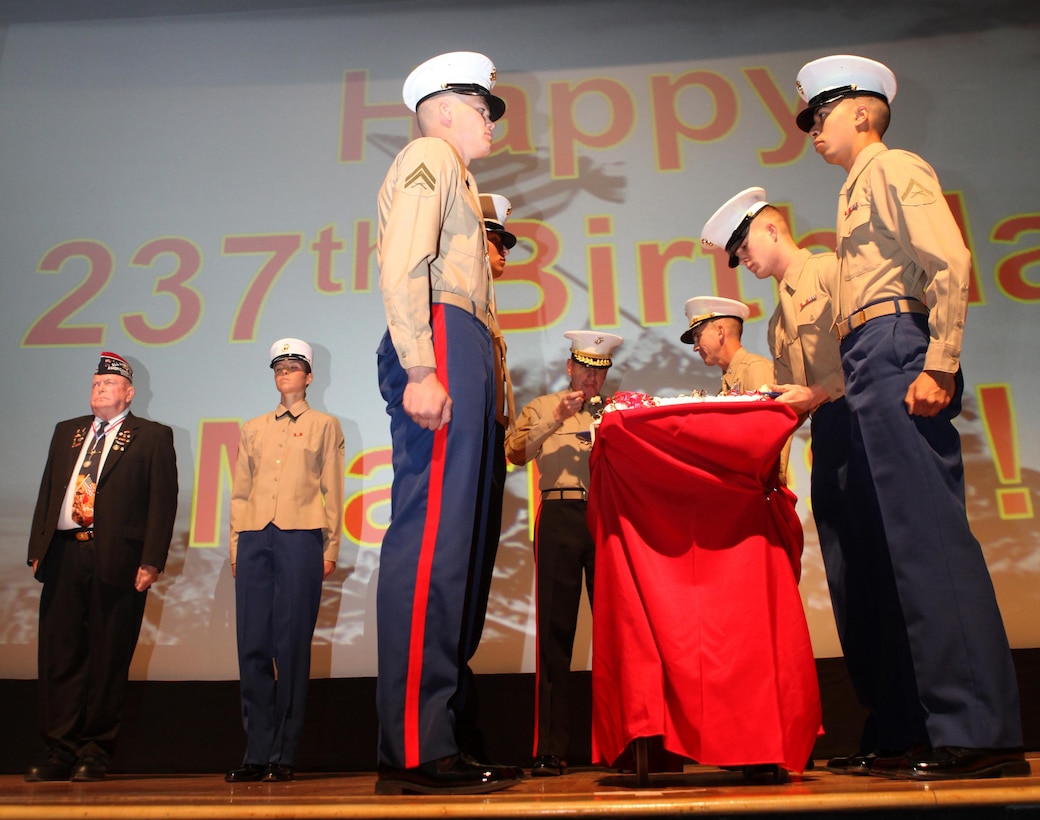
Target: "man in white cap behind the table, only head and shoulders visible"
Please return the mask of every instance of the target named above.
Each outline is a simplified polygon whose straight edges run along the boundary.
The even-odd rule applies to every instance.
[[[706,365],[722,369],[720,394],[773,384],[773,362],[740,343],[744,321],[751,314],[747,305],[724,297],[694,297],[684,307],[690,327],[680,339],[693,344]]]

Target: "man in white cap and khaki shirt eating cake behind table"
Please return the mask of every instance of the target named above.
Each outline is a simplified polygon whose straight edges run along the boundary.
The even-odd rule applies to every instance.
[[[570,330],[570,383],[540,395],[520,411],[505,436],[506,458],[517,466],[535,460],[541,506],[535,524],[538,667],[535,689],[535,764],[531,774],[563,774],[570,736],[571,655],[581,603],[581,575],[592,601],[596,544],[586,522],[590,484],[588,434],[602,408],[600,391],[622,338]]]

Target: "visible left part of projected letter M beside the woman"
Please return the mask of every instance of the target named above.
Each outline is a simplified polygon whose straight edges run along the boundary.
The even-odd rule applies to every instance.
[[[225,482],[230,487],[241,426],[237,420],[199,421],[196,478],[191,485],[191,526],[188,546],[218,546],[224,540],[220,507]]]

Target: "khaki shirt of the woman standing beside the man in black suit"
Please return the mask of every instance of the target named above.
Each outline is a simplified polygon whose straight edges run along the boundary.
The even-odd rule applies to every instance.
[[[339,419],[301,400],[242,425],[231,488],[231,563],[238,534],[274,523],[324,531],[335,561],[343,530],[343,430]]]

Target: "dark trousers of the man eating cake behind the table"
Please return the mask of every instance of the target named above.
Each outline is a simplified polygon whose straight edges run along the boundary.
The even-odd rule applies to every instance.
[[[535,757],[567,755],[571,701],[571,655],[584,575],[592,603],[596,544],[580,498],[547,498],[535,526],[536,669]],[[591,709],[591,704],[582,708]]]

